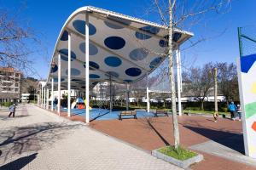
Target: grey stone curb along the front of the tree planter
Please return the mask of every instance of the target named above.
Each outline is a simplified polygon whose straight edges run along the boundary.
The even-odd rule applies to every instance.
[[[197,156],[189,158],[185,161],[180,161],[171,156],[166,156],[166,155],[160,153],[158,150],[152,150],[152,156],[155,156],[161,160],[170,162],[170,163],[176,165],[177,167],[182,167],[183,169],[187,169],[190,165],[200,162],[204,159],[204,156],[202,156],[201,154],[198,154]]]

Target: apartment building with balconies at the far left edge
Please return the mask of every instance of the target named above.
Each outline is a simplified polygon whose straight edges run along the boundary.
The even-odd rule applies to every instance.
[[[0,67],[0,103],[20,99],[21,72],[12,67]]]

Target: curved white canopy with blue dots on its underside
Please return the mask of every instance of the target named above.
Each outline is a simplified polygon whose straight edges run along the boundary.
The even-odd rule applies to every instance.
[[[85,12],[89,14],[90,87],[97,82],[136,82],[166,58],[167,27],[102,8],[83,7],[73,12],[61,29],[49,71],[57,83],[58,54],[61,54],[61,87],[67,89],[67,39],[71,34],[71,88],[83,89]],[[175,29],[177,48],[193,34]],[[62,83],[65,82],[65,83]]]

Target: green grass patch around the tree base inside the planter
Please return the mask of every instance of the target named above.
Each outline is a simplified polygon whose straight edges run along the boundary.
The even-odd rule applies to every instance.
[[[177,150],[174,149],[174,146],[166,146],[158,150],[160,153],[165,154],[166,156],[171,156],[177,160],[184,161],[191,157],[197,156],[197,154],[191,150],[183,149],[178,147]]]

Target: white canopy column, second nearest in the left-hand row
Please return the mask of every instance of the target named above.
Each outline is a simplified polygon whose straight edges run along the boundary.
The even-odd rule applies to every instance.
[[[70,116],[70,78],[71,78],[71,33],[68,32],[68,57],[67,57],[67,116]]]

